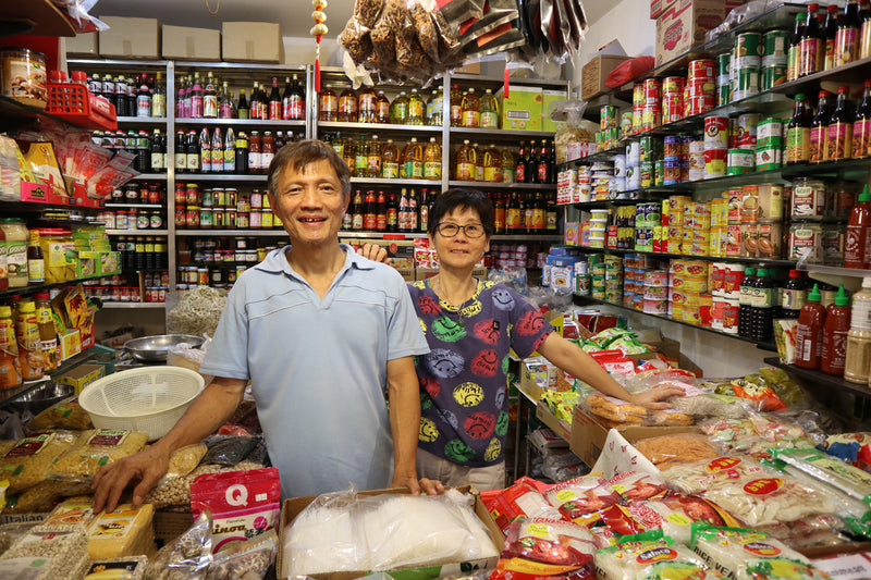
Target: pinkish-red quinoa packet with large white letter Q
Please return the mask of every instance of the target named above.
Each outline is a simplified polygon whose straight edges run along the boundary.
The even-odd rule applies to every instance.
[[[279,470],[268,467],[199,476],[191,483],[191,508],[195,518],[205,509],[211,511],[214,552],[231,542],[247,542],[279,522]]]

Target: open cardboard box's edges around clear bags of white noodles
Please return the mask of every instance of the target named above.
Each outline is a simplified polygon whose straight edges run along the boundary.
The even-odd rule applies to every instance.
[[[464,493],[469,492],[468,486],[457,488],[459,491]],[[372,490],[366,492],[359,492],[358,495],[364,496],[373,496],[373,495],[381,495],[384,493],[394,493],[394,494],[407,494],[409,493],[408,490],[405,489],[392,489],[392,490]],[[474,492],[475,496],[475,514],[478,516],[483,525],[487,527],[487,530],[490,532],[490,538],[493,540],[493,543],[496,546],[496,550],[501,551],[503,544],[505,543],[505,535],[502,533],[502,530],[493,521],[493,518],[490,516],[490,513],[481,502],[481,497],[477,492]],[[311,502],[316,499],[316,496],[309,495],[306,497],[292,497],[290,499],[285,499],[284,504],[281,507],[281,529],[279,530],[279,555],[278,560],[275,563],[275,572],[277,577],[280,579],[285,579],[287,576],[284,575],[284,564],[283,564],[283,554],[284,554],[284,530],[287,529],[287,526],[293,521],[293,519],[305,509]],[[498,560],[498,556],[492,558],[482,558],[473,562],[463,562],[463,563],[452,563],[452,564],[443,564],[441,566],[427,566],[421,568],[405,568],[403,569],[404,572],[402,578],[436,578],[440,576],[452,576],[452,575],[459,575],[461,570],[464,575],[468,575],[473,570],[483,570],[484,568],[492,568],[495,566]],[[311,578],[316,580],[354,580],[355,578],[359,578],[360,576],[366,575],[366,571],[354,571],[354,572],[327,572],[327,573],[315,573],[311,575]],[[398,578],[398,577],[397,577]]]

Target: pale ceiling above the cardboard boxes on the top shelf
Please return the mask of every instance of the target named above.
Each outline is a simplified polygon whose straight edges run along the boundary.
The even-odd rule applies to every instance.
[[[26,0],[25,0],[26,1]],[[328,37],[335,38],[354,12],[354,0],[328,0]],[[209,13],[209,7],[212,12]],[[584,10],[592,24],[614,3],[588,0]],[[96,15],[157,17],[163,24],[220,28],[223,21],[278,22],[283,36],[308,37],[314,26],[310,0],[99,0],[91,9]]]

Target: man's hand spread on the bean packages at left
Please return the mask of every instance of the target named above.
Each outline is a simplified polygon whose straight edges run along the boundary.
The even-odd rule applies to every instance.
[[[169,469],[170,456],[158,445],[152,445],[145,451],[113,461],[94,478],[91,489],[94,494],[94,511],[99,513],[106,508],[112,511],[118,506],[121,494],[133,480],[139,483],[133,490],[133,505],[140,506],[145,496],[160,481]]]

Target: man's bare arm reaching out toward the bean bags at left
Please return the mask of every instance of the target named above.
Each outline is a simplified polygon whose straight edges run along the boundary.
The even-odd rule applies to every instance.
[[[175,449],[203,441],[233,415],[242,402],[245,383],[242,379],[217,377],[157,443],[136,455],[103,466],[91,485],[96,492],[94,511],[113,510],[121,493],[133,480],[139,480],[133,490],[133,504],[142,505],[148,492],[167,473],[170,455]]]

